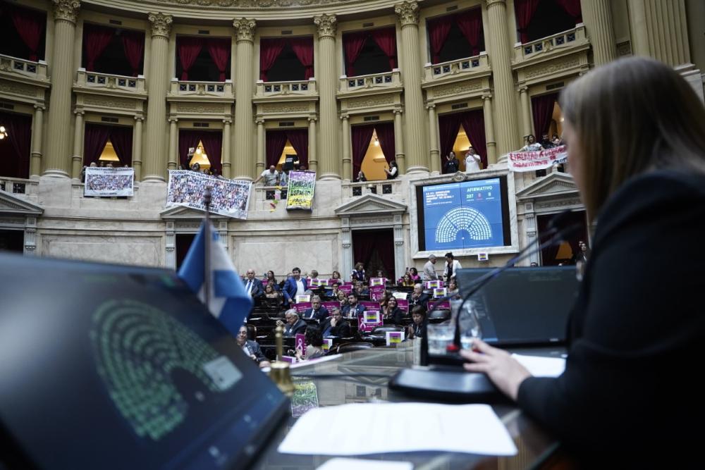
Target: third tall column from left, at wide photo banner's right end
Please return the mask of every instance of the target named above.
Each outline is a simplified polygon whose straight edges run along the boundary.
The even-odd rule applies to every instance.
[[[252,92],[255,89],[255,20],[237,18],[233,26],[238,32],[238,67],[235,76],[235,140],[233,149],[235,163],[233,170],[238,180],[252,180],[252,173],[262,172],[256,165],[252,136],[255,134],[255,120],[252,119]]]

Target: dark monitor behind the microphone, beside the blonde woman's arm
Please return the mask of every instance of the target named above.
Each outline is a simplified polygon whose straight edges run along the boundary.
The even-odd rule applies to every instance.
[[[491,269],[461,269],[460,295]],[[575,266],[509,268],[471,299],[482,338],[496,345],[548,345],[565,341],[568,314],[577,297]]]

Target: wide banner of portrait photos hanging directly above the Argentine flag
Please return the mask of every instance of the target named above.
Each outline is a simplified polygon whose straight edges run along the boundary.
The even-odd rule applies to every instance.
[[[252,182],[225,180],[189,170],[170,170],[166,206],[186,206],[204,211],[203,193],[211,188],[211,212],[233,218],[247,218]]]

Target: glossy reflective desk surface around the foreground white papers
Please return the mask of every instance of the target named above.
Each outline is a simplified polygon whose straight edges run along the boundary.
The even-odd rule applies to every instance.
[[[516,350],[520,354],[560,357],[560,350]],[[345,403],[422,401],[389,390],[388,377],[413,364],[412,342],[397,347],[372,348],[341,354],[331,360],[312,362],[291,370],[298,390],[292,397],[292,413],[269,436],[268,444],[252,463],[252,469],[315,469],[329,455],[280,454],[277,447],[294,425],[297,416],[312,407]],[[326,358],[327,359],[327,358]],[[340,378],[305,377],[309,374],[348,374]],[[370,374],[362,376],[357,374]],[[372,376],[384,374],[385,377]],[[431,401],[431,400],[429,400]],[[493,409],[507,427],[517,446],[513,457],[495,457],[458,452],[396,452],[368,454],[360,458],[412,462],[415,469],[533,469],[541,467],[558,449],[558,441],[510,404],[495,404]],[[332,426],[345,426],[333,423]],[[324,433],[325,430],[321,430]],[[314,438],[314,437],[312,437]]]

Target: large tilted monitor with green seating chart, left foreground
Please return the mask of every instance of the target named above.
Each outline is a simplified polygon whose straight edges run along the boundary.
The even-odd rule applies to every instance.
[[[173,271],[0,266],[0,462],[238,468],[283,416],[286,397]]]

